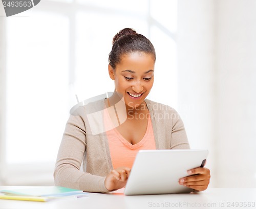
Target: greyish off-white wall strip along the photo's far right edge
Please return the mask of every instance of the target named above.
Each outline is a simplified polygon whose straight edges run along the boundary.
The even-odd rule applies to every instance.
[[[256,1],[217,4],[218,184],[256,187]]]

